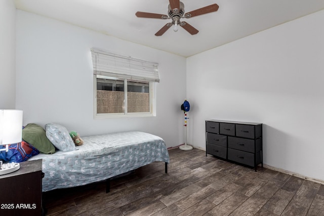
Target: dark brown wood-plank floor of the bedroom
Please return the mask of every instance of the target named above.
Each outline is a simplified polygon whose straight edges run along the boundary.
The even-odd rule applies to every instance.
[[[324,185],[193,149],[105,183],[43,193],[47,215],[324,215]]]

